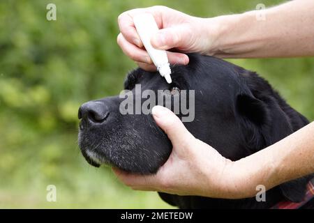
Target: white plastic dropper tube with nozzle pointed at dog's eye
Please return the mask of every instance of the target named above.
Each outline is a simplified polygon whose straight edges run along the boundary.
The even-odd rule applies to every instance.
[[[172,82],[170,74],[170,64],[168,61],[167,53],[165,50],[155,49],[151,45],[151,37],[158,32],[158,26],[154,19],[154,16],[150,13],[143,13],[136,15],[133,18],[135,28],[137,30],[142,43],[147,50],[147,53],[151,57],[151,60],[155,64],[157,70],[162,77],[165,77],[168,84]]]

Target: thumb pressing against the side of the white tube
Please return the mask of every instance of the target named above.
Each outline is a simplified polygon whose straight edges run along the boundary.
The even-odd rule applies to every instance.
[[[186,47],[186,41],[190,39],[191,34],[190,28],[186,24],[160,29],[156,35],[151,37],[151,45],[157,49]]]

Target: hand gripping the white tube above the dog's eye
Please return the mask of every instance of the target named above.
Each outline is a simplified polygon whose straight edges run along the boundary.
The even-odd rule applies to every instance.
[[[153,71],[156,70],[156,66],[145,51],[133,22],[133,17],[142,13],[151,13],[160,29],[151,38],[151,45],[156,49],[175,48],[180,52],[205,54],[215,40],[215,32],[212,32],[211,35],[207,34],[209,26],[207,19],[186,15],[165,6],[128,10],[118,17],[121,33],[117,37],[117,43],[124,54],[133,59],[144,70]],[[188,56],[180,52],[167,51],[169,62],[188,64]]]

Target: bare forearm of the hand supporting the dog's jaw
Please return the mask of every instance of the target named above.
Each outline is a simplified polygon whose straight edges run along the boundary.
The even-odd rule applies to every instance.
[[[231,180],[239,197],[252,197],[256,186],[267,190],[314,172],[314,122],[262,151],[232,164]],[[245,173],[245,174],[244,174]],[[243,179],[243,180],[241,180]]]

